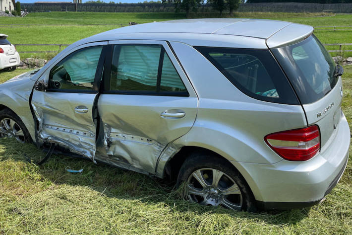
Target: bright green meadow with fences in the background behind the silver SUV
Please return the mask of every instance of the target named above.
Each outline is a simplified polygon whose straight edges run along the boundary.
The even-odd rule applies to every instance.
[[[312,26],[351,25],[352,15],[316,17],[320,13],[272,13],[272,12],[238,12],[239,18],[266,18],[286,20]],[[209,14],[193,14],[197,17],[210,17]],[[214,13],[211,15],[216,17]],[[13,44],[71,44],[79,39],[119,27],[119,25],[86,25],[77,24],[126,24],[129,21],[147,23],[172,19],[183,19],[184,13],[110,13],[110,12],[43,12],[30,13],[26,17],[0,17],[0,33],[9,35]],[[10,25],[11,24],[11,25]],[[23,25],[26,24],[26,25]],[[60,25],[58,25],[60,24]],[[11,26],[11,28],[9,27]],[[315,33],[323,43],[352,43],[352,30],[317,31]],[[18,46],[18,51],[56,51],[58,46]],[[337,50],[338,47],[330,46]],[[352,46],[346,50],[352,50]],[[52,55],[21,54],[21,58],[31,56],[50,59]],[[352,56],[352,53],[344,55]]]

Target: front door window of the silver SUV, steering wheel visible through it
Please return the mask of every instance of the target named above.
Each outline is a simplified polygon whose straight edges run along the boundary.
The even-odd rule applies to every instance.
[[[49,88],[54,90],[92,90],[103,46],[73,52],[50,71]]]

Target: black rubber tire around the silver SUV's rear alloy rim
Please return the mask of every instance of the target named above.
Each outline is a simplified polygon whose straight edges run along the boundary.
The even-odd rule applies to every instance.
[[[230,176],[239,187],[242,195],[242,210],[256,211],[254,196],[244,180],[243,176],[228,160],[211,154],[192,154],[182,164],[178,177],[177,187],[182,182],[187,182],[188,177],[201,168],[213,168],[220,170]]]

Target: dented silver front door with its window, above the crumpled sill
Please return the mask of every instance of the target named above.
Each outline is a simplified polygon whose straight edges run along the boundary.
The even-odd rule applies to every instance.
[[[34,90],[32,107],[39,122],[39,139],[56,143],[94,161],[95,100],[103,71],[104,44],[74,49],[40,78],[46,91]]]

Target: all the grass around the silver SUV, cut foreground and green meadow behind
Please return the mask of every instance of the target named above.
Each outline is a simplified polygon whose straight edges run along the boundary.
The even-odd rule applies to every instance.
[[[97,22],[116,20],[114,22],[118,23],[125,21],[140,23],[184,17],[181,14],[144,13],[115,15],[93,13],[93,15]],[[243,17],[250,16],[243,15]],[[272,14],[260,16],[274,18]],[[276,17],[278,19],[296,20],[295,22],[314,26],[348,25],[352,19],[351,16],[320,18],[305,18],[297,14],[289,14],[290,18],[285,18],[285,15],[281,14],[277,16],[280,16]],[[30,14],[28,18],[11,18],[13,21],[3,18],[0,18],[1,24],[24,22],[72,24],[93,21],[88,13],[74,15],[70,12]],[[38,43],[38,40],[40,43],[72,43],[99,33],[100,30],[107,30],[105,26],[89,27],[77,28],[81,30],[78,33],[72,30],[75,26],[1,28],[1,32],[18,36],[10,39],[13,43]],[[349,41],[350,34],[349,31],[317,33],[325,43],[333,43],[335,37],[352,42]],[[324,41],[324,38],[328,41]],[[16,42],[16,39],[20,42]],[[342,106],[351,128],[352,66],[345,66],[344,69]],[[0,72],[0,82],[24,72],[24,70]],[[180,198],[179,193],[173,190],[173,185],[139,173],[65,156],[53,156],[39,167],[29,163],[24,154],[30,158],[44,155],[32,144],[22,145],[11,139],[0,139],[0,235],[352,234],[351,159],[340,183],[322,204],[284,212],[246,213],[191,204]],[[82,174],[72,174],[65,170],[66,167],[84,171]]]

